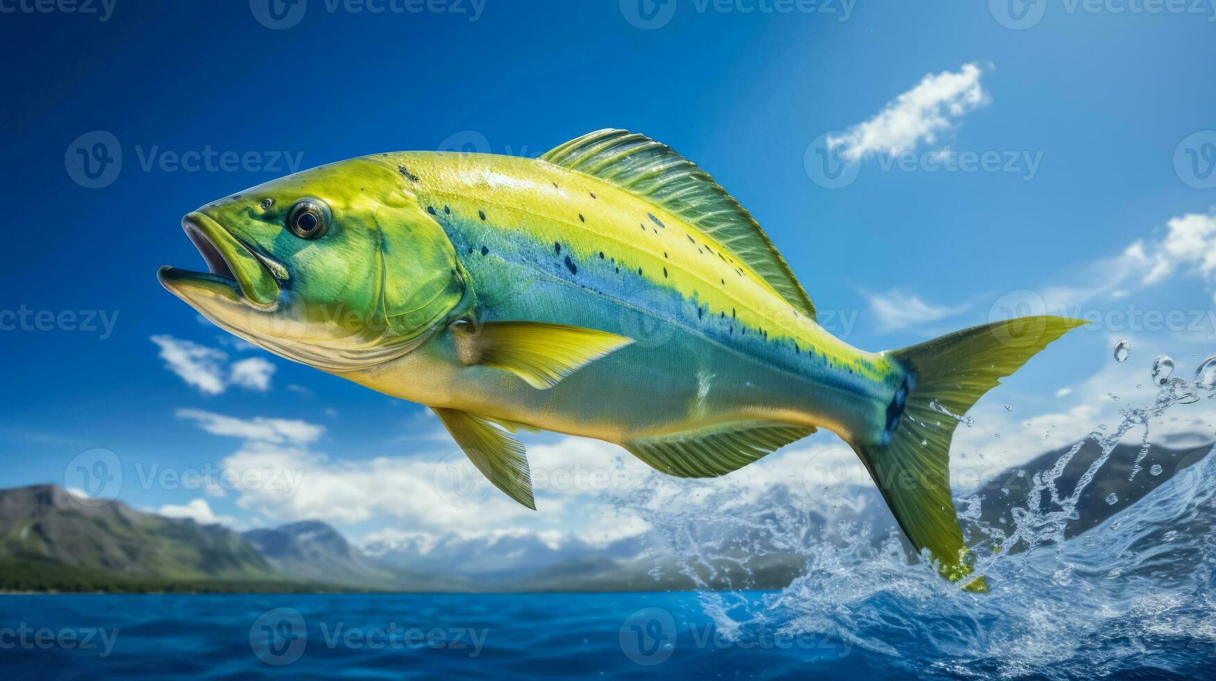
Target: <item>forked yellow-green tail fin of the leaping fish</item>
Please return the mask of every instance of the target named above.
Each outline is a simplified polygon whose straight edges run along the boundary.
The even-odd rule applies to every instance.
[[[928,548],[952,581],[972,572],[950,495],[950,440],[958,421],[984,393],[1021,367],[1048,343],[1085,325],[1054,316],[1019,317],[956,331],[928,343],[891,350],[908,378],[888,410],[879,441],[855,443],[903,534]],[[984,579],[967,585],[987,589]]]

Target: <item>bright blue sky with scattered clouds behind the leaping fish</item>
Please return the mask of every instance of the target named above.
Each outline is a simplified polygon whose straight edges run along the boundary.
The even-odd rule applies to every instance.
[[[240,527],[636,527],[595,483],[539,491],[533,516],[495,497],[437,511],[435,462],[455,446],[424,410],[236,343],[157,283],[157,266],[201,261],[179,227],[188,210],[379,151],[539,156],[597,128],[644,133],[738,197],[826,325],[866,349],[1003,309],[1100,317],[980,404],[955,451],[990,466],[1109,418],[1105,394],[1142,395],[1158,353],[1189,372],[1216,350],[1210,4],[637,1],[309,0],[277,29],[260,0],[5,4],[0,54],[21,68],[0,103],[0,484],[62,484],[101,448],[130,503]],[[852,181],[828,186],[818,150]],[[967,158],[1000,169],[938,169]],[[1118,338],[1133,342],[1122,365]],[[1182,421],[1169,428],[1211,432],[1206,412]],[[529,445],[534,471],[627,456]],[[798,454],[749,474],[781,478],[805,467]],[[306,473],[304,489],[153,479],[268,462]]]

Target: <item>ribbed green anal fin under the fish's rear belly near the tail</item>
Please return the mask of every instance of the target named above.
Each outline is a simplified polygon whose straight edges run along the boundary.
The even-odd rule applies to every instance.
[[[638,438],[625,449],[652,468],[677,478],[716,478],[798,441],[815,428],[748,421]]]

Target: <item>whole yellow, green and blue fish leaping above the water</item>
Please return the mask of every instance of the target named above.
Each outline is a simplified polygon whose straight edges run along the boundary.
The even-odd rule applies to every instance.
[[[850,347],[751,214],[670,147],[598,130],[540,158],[401,152],[305,170],[182,219],[209,272],[161,283],[288,360],[434,410],[535,508],[519,429],[727,474],[826,428],[946,578],[984,590],[950,494],[956,418],[1080,320]]]

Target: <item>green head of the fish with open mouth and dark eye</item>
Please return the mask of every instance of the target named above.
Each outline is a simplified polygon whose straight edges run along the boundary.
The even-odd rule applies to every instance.
[[[465,297],[447,236],[379,159],[288,175],[181,224],[209,271],[164,266],[161,283],[229,332],[319,368],[400,356]]]

